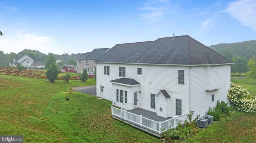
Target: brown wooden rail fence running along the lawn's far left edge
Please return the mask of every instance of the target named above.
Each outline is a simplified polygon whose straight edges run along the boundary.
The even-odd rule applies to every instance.
[[[34,72],[34,70],[30,70]],[[44,71],[41,71],[40,73],[45,73]],[[45,74],[35,74],[31,72],[19,72],[17,70],[9,70],[9,69],[0,69],[0,74],[5,75],[13,75],[13,76],[22,76],[22,77],[29,77],[29,78],[41,78],[41,79],[47,79]],[[58,80],[62,80],[63,76],[58,76]],[[94,75],[89,75],[89,78],[94,78]],[[79,76],[71,76],[70,80],[80,80]]]

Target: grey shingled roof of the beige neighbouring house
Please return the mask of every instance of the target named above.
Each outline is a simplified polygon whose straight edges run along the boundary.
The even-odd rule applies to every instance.
[[[110,48],[101,48],[101,49],[94,49],[92,52],[87,52],[77,59],[98,59],[98,57],[102,56],[106,51],[108,51]]]

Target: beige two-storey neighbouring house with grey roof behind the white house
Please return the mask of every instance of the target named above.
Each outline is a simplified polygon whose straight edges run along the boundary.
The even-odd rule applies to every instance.
[[[77,72],[82,72],[84,69],[86,69],[87,72],[94,72],[94,67],[96,67],[94,61],[109,49],[110,48],[94,49],[92,52],[87,52],[76,58]]]

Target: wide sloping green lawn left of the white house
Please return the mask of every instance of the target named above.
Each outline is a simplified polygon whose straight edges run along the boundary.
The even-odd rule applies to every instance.
[[[0,135],[23,135],[24,143],[161,142],[111,118],[112,102],[71,89],[87,85],[95,79],[50,83],[0,75]]]

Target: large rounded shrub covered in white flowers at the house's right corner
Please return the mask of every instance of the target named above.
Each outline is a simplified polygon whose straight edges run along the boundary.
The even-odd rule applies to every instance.
[[[239,111],[254,112],[255,110],[256,97],[251,96],[247,89],[233,82],[228,90],[228,99],[231,106]]]

